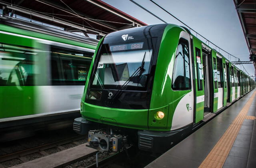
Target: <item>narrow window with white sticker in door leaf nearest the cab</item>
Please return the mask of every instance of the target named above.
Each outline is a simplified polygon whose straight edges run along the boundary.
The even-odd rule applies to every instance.
[[[203,90],[203,75],[202,75],[202,63],[201,63],[201,50],[196,48],[196,68],[197,68],[197,89]]]

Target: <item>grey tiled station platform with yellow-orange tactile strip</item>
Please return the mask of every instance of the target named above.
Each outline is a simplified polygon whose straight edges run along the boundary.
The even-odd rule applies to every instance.
[[[146,168],[256,168],[256,89]]]

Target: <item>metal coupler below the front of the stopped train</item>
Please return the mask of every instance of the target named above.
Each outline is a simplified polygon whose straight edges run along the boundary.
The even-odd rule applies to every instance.
[[[100,152],[118,152],[129,146],[127,136],[121,134],[110,134],[100,130],[90,130],[88,132],[89,147],[99,150]]]

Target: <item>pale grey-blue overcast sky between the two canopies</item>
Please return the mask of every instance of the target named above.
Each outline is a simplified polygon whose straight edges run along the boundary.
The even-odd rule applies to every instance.
[[[130,0],[102,0],[111,6],[145,22],[160,24],[158,20]],[[134,0],[164,21],[182,25],[178,20],[161,10],[149,0]],[[249,61],[249,50],[236,13],[233,0],[154,0],[168,12],[186,23],[220,48],[239,57],[241,61]],[[183,25],[182,25],[183,26]],[[193,33],[193,32],[192,32]],[[194,34],[194,33],[193,33]],[[202,39],[201,39],[202,40]],[[205,42],[205,40],[203,40]],[[217,49],[218,50],[218,49]],[[221,52],[228,58],[228,54]],[[231,61],[235,61],[231,58]],[[242,69],[241,65],[237,65]],[[254,75],[252,64],[244,64],[249,74]]]

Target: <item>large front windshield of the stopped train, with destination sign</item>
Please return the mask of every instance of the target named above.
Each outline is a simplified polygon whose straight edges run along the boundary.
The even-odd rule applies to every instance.
[[[103,44],[92,87],[145,90],[152,49],[145,41]]]

